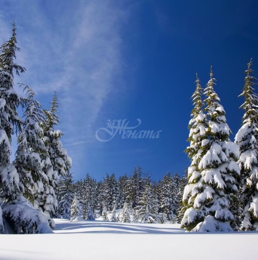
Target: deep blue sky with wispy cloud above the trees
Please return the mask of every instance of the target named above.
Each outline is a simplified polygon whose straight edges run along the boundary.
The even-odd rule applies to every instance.
[[[258,77],[255,0],[0,4],[0,39],[9,39],[15,19],[16,62],[27,69],[15,90],[28,84],[45,109],[57,91],[57,129],[74,179],[130,175],[138,166],[156,181],[182,175],[196,72],[205,87],[211,65],[234,139],[250,58]]]

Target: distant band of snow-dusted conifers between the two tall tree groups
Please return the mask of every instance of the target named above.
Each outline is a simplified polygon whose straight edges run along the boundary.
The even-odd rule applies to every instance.
[[[107,212],[123,208],[120,221],[126,219],[124,222],[129,222],[130,218],[124,216],[129,212],[136,222],[162,222],[164,219],[160,219],[158,214],[164,213],[168,221],[180,223],[186,181],[185,175],[180,178],[177,173],[174,176],[167,173],[161,181],[153,182],[141,167],[135,168],[132,175],[125,174],[118,179],[114,173],[106,174],[100,182],[87,174],[84,179],[73,183],[70,174],[61,177],[58,184],[56,217],[70,219],[82,216],[83,219],[94,220],[98,212],[107,220]],[[76,208],[72,214],[71,206]]]

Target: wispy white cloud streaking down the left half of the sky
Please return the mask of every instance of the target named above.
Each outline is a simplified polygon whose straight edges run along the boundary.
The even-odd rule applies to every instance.
[[[127,13],[112,1],[80,1],[71,11],[68,2],[63,5],[65,11],[56,10],[54,17],[40,2],[17,2],[8,15],[0,13],[5,28],[0,32],[10,35],[7,19],[14,16],[21,48],[17,60],[27,69],[17,81],[30,85],[45,106],[57,91],[63,143],[76,161],[94,138],[95,124],[122,72],[120,29]]]

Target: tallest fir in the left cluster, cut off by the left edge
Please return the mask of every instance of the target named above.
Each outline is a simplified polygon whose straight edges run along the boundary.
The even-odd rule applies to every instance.
[[[0,47],[0,199],[5,203],[24,190],[14,165],[10,164],[11,135],[20,129],[22,123],[17,115],[20,97],[13,90],[13,72],[19,75],[25,71],[24,67],[14,63],[19,48],[16,45],[15,23],[12,25],[11,38]],[[0,211],[0,233],[3,233],[2,209]]]

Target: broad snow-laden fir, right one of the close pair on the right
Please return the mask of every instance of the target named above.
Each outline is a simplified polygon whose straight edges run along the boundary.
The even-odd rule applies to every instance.
[[[220,98],[213,89],[215,81],[211,69],[204,91],[207,139],[202,138],[198,151],[196,147],[187,149],[193,167],[188,169],[189,185],[183,197],[188,208],[181,227],[188,231],[232,231],[229,223],[234,216],[229,209],[238,191],[236,178],[240,171],[235,161],[239,158],[239,148],[229,141],[231,132]]]

